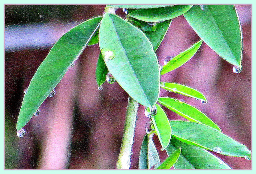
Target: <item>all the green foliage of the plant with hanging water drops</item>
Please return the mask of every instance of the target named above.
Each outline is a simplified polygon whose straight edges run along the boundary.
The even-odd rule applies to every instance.
[[[114,14],[115,8],[124,8],[127,14],[125,20]],[[172,18],[180,15],[184,15],[201,40],[161,67],[155,52]],[[160,88],[163,88],[196,98],[202,103],[207,102],[205,96],[193,88],[160,82],[161,75],[190,60],[202,42],[224,60],[241,68],[241,26],[234,5],[107,5],[103,16],[82,22],[54,44],[28,86],[16,129],[20,130],[27,124],[84,48],[99,44],[98,86],[106,82],[106,76],[111,74],[112,80],[114,78],[133,99],[130,100],[136,101],[130,103],[133,108],[127,112],[126,121],[134,122],[130,119],[136,116],[131,114],[136,115],[138,103],[146,107],[146,116],[150,118],[140,150],[139,169],[169,169],[172,166],[176,169],[230,169],[207,150],[250,159],[251,152],[246,146],[223,134],[216,123],[194,106],[175,98],[159,96]],[[168,120],[157,102],[189,121]],[[130,129],[129,124],[126,126],[124,134],[129,133],[131,140],[123,142],[133,142],[134,127]],[[166,150],[169,156],[161,165],[152,134],[158,136],[162,150]],[[122,150],[125,151],[125,148],[121,147]],[[129,161],[126,162],[129,168]]]

